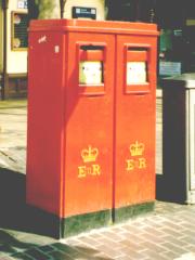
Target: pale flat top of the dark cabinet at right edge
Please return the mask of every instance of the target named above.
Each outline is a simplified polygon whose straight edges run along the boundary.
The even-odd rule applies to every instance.
[[[181,87],[184,89],[195,89],[195,73],[164,78],[161,81],[165,88]]]

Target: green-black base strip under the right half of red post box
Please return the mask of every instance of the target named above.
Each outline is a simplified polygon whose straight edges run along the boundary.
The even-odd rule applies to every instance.
[[[147,202],[138,205],[130,205],[115,209],[114,222],[118,223],[141,213],[146,213],[154,210],[155,202]]]

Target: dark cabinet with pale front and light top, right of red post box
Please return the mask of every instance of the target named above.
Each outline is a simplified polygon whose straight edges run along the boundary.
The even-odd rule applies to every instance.
[[[195,74],[166,78],[162,83],[164,182],[157,182],[161,186],[157,196],[195,204]]]

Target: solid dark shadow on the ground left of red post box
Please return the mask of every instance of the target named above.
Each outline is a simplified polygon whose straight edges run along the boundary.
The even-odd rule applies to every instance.
[[[0,227],[56,237],[54,217],[46,218],[44,212],[26,205],[25,182],[25,174],[0,168]]]

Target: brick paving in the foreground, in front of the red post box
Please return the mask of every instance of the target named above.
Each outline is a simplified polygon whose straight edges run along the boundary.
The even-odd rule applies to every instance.
[[[156,202],[127,222],[56,240],[0,230],[1,260],[194,260],[195,206]]]

